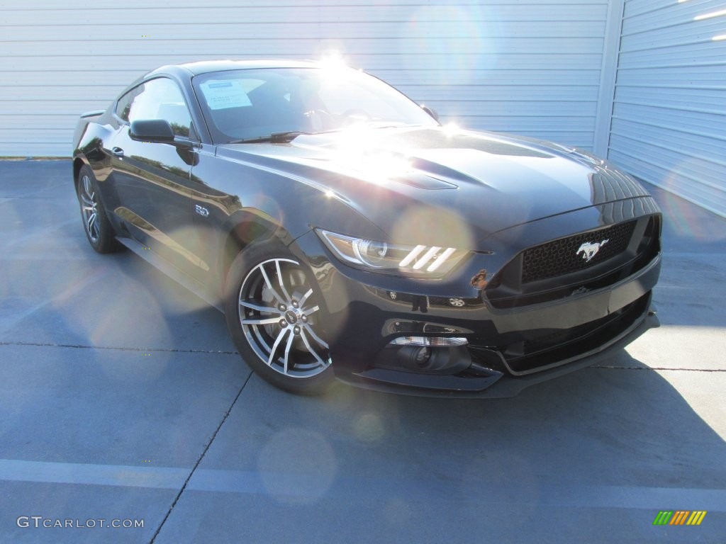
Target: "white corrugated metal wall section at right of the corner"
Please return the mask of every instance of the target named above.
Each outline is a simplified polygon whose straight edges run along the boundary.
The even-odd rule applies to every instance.
[[[608,157],[726,216],[726,1],[626,0]]]

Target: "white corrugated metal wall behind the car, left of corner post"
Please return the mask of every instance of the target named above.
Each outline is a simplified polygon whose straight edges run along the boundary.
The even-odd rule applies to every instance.
[[[330,49],[445,120],[592,149],[607,12],[608,0],[4,0],[0,155],[70,154],[78,114],[158,65]]]

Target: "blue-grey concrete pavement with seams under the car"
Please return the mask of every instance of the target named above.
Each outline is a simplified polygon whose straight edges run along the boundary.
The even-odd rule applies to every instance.
[[[513,399],[309,398],[91,250],[70,161],[0,161],[0,542],[726,542],[726,221],[651,189],[662,326],[607,363]]]

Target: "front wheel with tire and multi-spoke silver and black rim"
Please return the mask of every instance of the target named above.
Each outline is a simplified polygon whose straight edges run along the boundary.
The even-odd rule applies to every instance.
[[[224,314],[242,358],[280,389],[319,395],[333,382],[322,297],[308,268],[283,244],[248,246],[227,273]]]

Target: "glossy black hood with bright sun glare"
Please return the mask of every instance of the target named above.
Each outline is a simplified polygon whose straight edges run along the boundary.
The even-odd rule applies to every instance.
[[[458,247],[475,247],[505,228],[647,195],[589,154],[446,128],[301,135],[289,144],[234,144],[219,152],[330,191],[389,241],[405,244],[435,243],[432,236],[451,244],[463,236]]]

